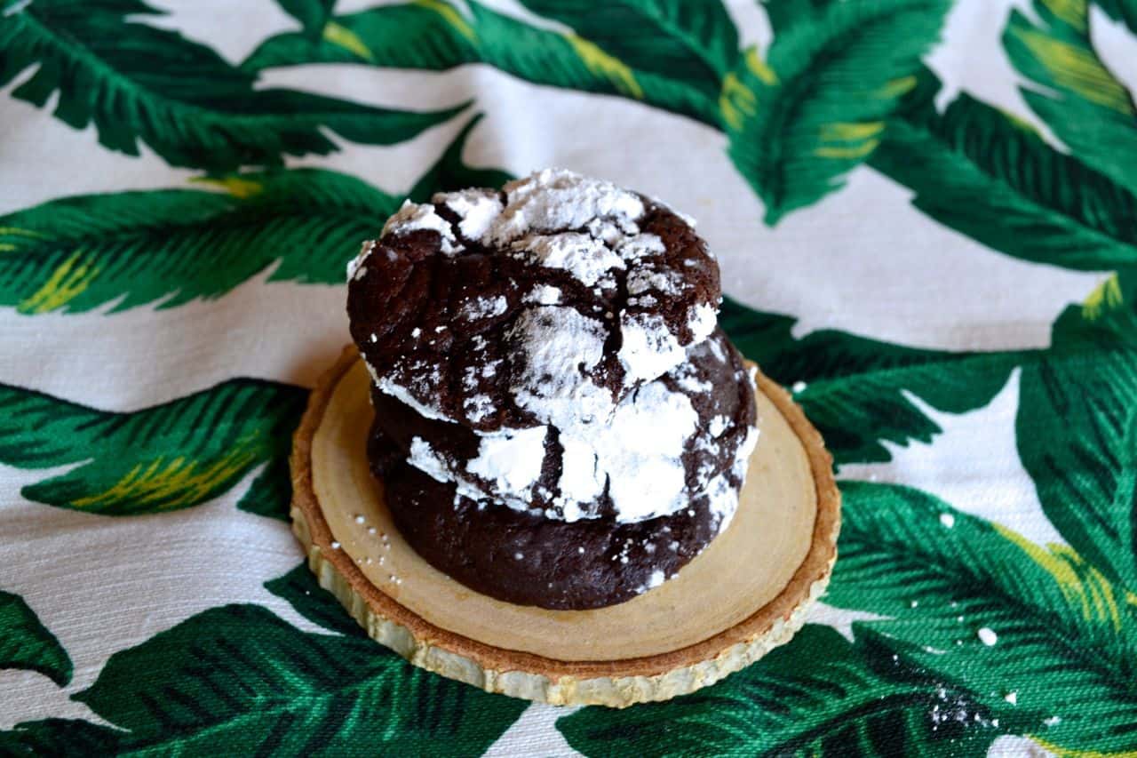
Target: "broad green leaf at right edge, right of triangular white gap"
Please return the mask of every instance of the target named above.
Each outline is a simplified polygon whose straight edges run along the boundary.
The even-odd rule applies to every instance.
[[[1137,592],[1137,351],[1031,363],[1020,393],[1019,454],[1043,510],[1087,561]]]

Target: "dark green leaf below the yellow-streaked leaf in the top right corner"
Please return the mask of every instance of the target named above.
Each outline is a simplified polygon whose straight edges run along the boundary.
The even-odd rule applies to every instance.
[[[889,122],[872,167],[940,223],[1019,258],[1102,271],[1137,265],[1137,198],[961,94],[939,114],[930,73]]]

